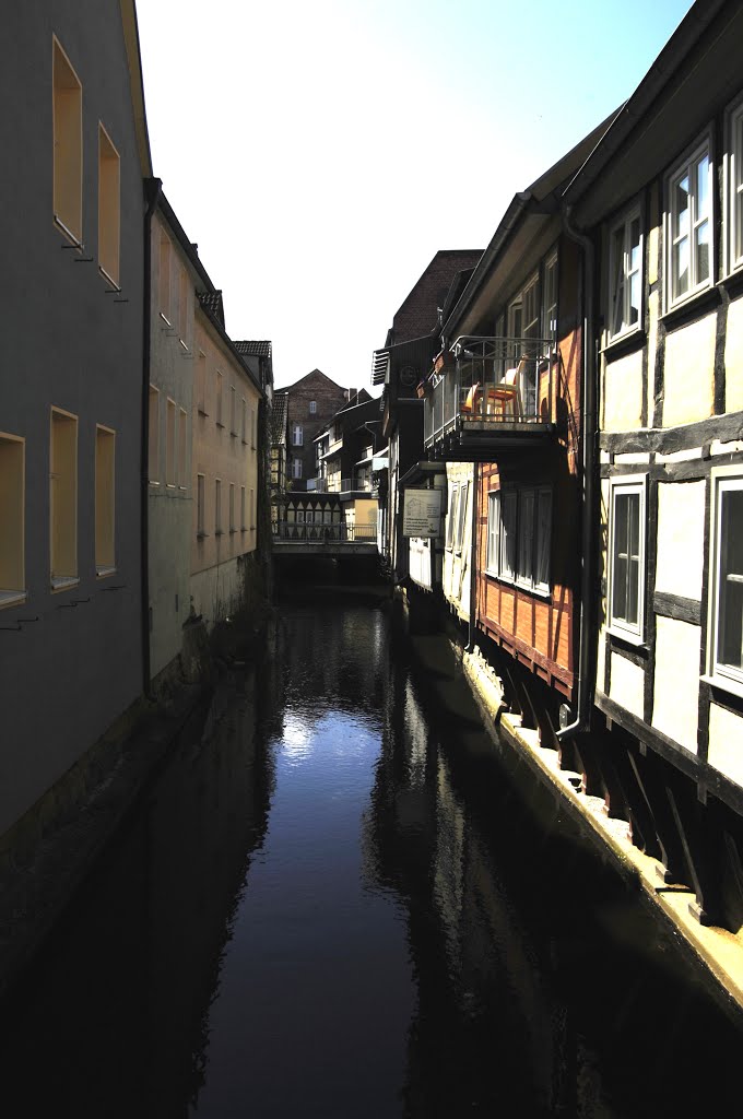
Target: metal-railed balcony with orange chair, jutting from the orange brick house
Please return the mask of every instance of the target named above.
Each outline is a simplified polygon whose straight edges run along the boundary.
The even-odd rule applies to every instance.
[[[445,357],[425,385],[426,450],[487,462],[493,452],[554,436],[561,367],[553,338],[463,335]]]

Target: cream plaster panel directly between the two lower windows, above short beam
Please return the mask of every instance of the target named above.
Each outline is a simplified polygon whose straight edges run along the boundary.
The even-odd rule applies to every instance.
[[[702,598],[705,483],[658,486],[658,558],[656,591]]]

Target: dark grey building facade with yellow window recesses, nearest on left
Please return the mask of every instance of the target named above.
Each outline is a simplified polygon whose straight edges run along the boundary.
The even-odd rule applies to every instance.
[[[3,30],[0,835],[142,690],[151,173],[132,2],[11,4]]]

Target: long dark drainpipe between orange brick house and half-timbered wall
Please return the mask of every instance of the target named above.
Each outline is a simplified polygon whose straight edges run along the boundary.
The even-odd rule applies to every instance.
[[[566,705],[561,707],[561,724],[565,725],[556,733],[558,741],[572,737],[581,731],[586,731],[591,722],[591,703],[595,684],[595,666],[593,664],[593,601],[595,589],[596,549],[594,546],[593,515],[595,505],[596,473],[596,436],[598,436],[598,392],[596,365],[594,346],[594,308],[593,290],[595,276],[595,260],[593,242],[580,231],[572,220],[572,207],[563,211],[564,227],[567,235],[581,245],[583,250],[583,394],[582,394],[582,432],[581,432],[581,473],[583,481],[583,508],[581,530],[581,614],[579,634],[577,686],[573,720],[567,723],[571,712]]]

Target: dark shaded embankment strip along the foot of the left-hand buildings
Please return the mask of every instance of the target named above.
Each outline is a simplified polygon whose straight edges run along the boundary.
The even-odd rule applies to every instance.
[[[261,623],[185,628],[178,666],[124,712],[79,762],[2,837],[0,997],[31,966],[76,891],[147,786],[207,717],[220,678],[262,655]],[[217,703],[218,706],[218,703]]]

